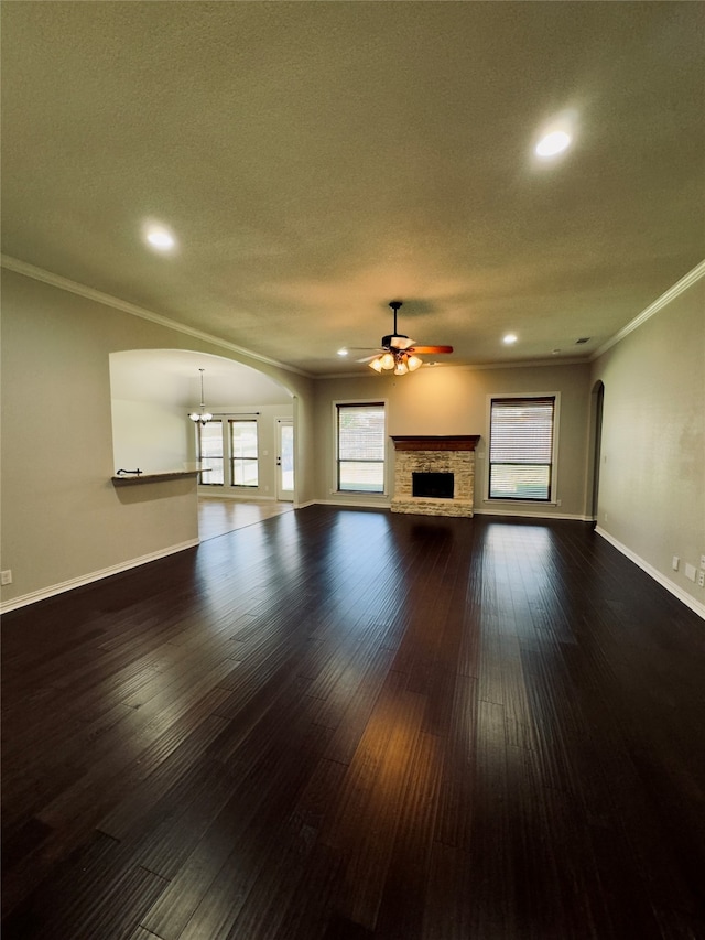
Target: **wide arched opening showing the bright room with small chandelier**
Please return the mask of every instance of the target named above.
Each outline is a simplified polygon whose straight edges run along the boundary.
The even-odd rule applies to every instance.
[[[202,377],[205,425],[188,419],[199,412]],[[294,485],[282,493],[278,477],[279,429],[288,422],[295,433],[294,397],[269,376],[193,350],[131,349],[110,354],[110,393],[116,469],[212,467],[198,478],[202,540],[292,508]]]

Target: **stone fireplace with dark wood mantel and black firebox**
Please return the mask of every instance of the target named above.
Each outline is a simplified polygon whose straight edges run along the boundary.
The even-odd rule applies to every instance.
[[[479,434],[392,436],[397,452],[392,512],[471,516],[479,439]]]

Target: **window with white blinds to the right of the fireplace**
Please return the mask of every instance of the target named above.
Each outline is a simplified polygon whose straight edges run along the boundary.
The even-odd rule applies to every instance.
[[[555,403],[555,396],[491,400],[490,499],[551,499]]]

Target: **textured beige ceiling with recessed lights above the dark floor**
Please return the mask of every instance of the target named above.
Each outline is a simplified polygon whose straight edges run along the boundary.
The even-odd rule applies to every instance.
[[[586,357],[705,256],[704,23],[688,2],[4,3],[2,250],[310,374],[365,371],[336,350],[377,345],[397,298],[448,364]],[[566,109],[575,145],[539,165]]]

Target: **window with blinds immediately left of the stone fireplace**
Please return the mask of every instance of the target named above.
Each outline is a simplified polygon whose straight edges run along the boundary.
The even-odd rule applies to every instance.
[[[338,490],[384,491],[384,403],[338,404]]]

